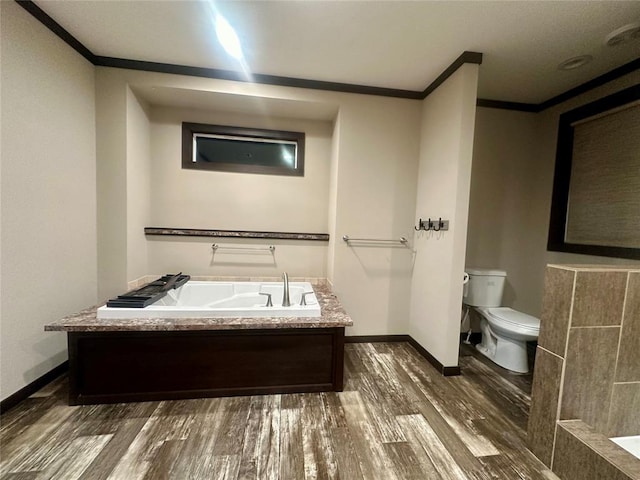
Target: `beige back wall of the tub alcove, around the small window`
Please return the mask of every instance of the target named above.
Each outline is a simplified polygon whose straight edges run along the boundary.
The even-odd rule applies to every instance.
[[[182,169],[182,122],[305,132],[303,177]],[[275,232],[327,232],[331,135],[329,121],[155,107],[152,111],[151,224]],[[148,225],[150,226],[150,225]],[[273,244],[273,255],[220,248]],[[152,273],[326,277],[326,242],[150,238]]]

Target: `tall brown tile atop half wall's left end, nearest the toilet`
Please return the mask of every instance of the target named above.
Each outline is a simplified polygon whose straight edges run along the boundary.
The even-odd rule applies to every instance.
[[[547,267],[538,345],[561,357],[565,355],[576,272]]]

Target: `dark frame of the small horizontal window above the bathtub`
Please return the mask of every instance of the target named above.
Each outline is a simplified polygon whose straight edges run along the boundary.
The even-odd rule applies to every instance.
[[[295,142],[297,145],[296,168],[273,167],[267,165],[247,165],[235,163],[193,162],[193,135],[209,133],[229,135],[251,139],[269,139]],[[266,175],[304,176],[304,132],[287,132],[282,130],[265,130],[257,128],[231,127],[226,125],[209,125],[206,123],[182,123],[182,168],[191,170],[214,170],[222,172],[258,173]]]

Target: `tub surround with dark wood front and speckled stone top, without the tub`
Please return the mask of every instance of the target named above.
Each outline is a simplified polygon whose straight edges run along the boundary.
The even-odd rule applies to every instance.
[[[353,322],[314,289],[320,318],[99,320],[91,308],[45,330],[67,332],[70,405],[342,391]]]

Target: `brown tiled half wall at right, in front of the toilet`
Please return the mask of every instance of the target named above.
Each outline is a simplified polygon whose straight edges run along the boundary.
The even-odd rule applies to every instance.
[[[638,435],[639,411],[640,269],[548,266],[531,450],[548,466],[559,465],[554,456],[571,436],[566,429],[558,434],[558,421],[580,419],[606,437]]]

